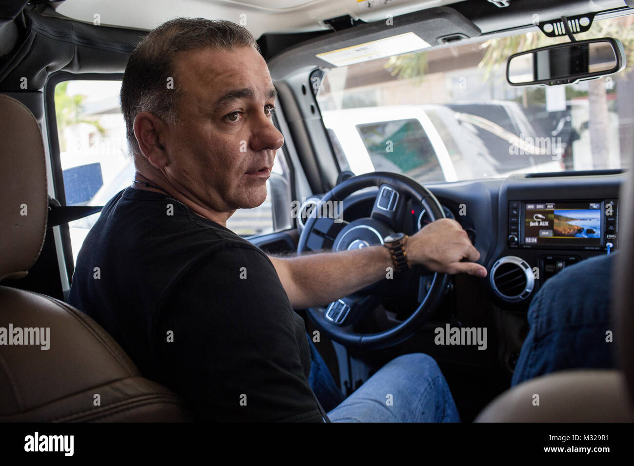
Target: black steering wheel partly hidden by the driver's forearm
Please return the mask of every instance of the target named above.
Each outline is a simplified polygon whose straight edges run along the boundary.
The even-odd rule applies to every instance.
[[[378,195],[374,200],[370,217],[356,219],[345,224],[337,219],[336,208],[354,192],[370,186],[378,187]],[[420,202],[431,221],[444,218],[443,208],[429,190],[420,186],[411,178],[398,173],[372,172],[354,178],[346,179],[337,184],[321,198],[321,201],[306,220],[304,230],[299,236],[297,253],[308,250],[320,250],[328,247],[332,242],[334,251],[361,249],[372,245],[382,245],[383,238],[395,232],[404,230],[408,201]],[[324,210],[335,211],[335,218],[321,215]],[[337,221],[339,220],[339,224]],[[336,235],[335,235],[336,233]],[[394,271],[394,278],[385,278],[381,282],[403,280],[403,273]],[[310,307],[306,309],[309,318],[320,332],[347,347],[363,349],[382,349],[394,346],[408,339],[418,328],[429,320],[448,288],[450,280],[444,273],[432,274],[432,279],[418,283],[418,307],[406,320],[378,333],[357,333],[354,325],[368,313],[374,310],[379,301],[373,291],[376,287],[363,288],[353,295],[334,301],[327,308]],[[411,276],[410,276],[411,278]],[[378,282],[378,283],[381,283]]]

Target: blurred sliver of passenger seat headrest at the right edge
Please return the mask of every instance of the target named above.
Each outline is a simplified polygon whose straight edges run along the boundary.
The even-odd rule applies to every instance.
[[[634,169],[619,193],[619,254],[614,264],[612,292],[614,344],[634,406]]]

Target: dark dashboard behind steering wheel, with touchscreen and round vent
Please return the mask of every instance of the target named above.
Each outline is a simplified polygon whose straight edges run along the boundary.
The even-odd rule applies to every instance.
[[[526,309],[553,275],[618,250],[619,190],[625,179],[619,172],[533,174],[425,187],[447,217],[474,233],[479,262],[489,271],[481,286],[491,300],[502,308]],[[368,216],[376,195],[369,189],[348,197],[344,217]],[[422,205],[410,203],[406,215],[404,233],[410,235],[430,222]]]

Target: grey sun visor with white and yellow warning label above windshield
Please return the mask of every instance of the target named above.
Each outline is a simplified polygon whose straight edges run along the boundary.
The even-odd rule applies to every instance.
[[[273,81],[306,67],[332,68],[414,52],[480,36],[481,31],[450,7],[415,11],[325,34],[273,56]]]

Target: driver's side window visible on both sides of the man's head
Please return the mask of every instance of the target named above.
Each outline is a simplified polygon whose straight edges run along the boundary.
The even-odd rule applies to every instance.
[[[66,205],[105,205],[134,179],[127,148],[126,123],[119,105],[121,81],[63,81],[55,87],[55,114]],[[278,150],[272,173],[290,172]],[[60,200],[63,202],[63,200]],[[68,223],[72,254],[77,254],[100,214]],[[238,209],[227,227],[240,236],[273,231],[273,200],[267,182],[266,201],[254,209]],[[278,226],[279,228],[279,226]]]

